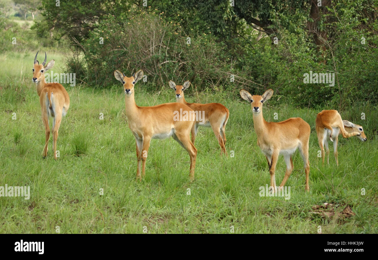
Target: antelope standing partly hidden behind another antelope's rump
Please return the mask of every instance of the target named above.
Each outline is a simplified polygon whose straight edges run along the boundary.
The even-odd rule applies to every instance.
[[[196,123],[192,128],[192,143],[194,144],[195,137],[198,132],[199,126],[211,127],[215,137],[220,145],[222,155],[223,153],[227,156],[227,151],[225,148],[226,144],[226,134],[225,128],[229,117],[228,109],[219,103],[209,103],[209,104],[198,104],[198,103],[187,103],[184,98],[184,90],[189,88],[190,81],[187,80],[184,84],[176,85],[172,80],[169,81],[169,86],[176,92],[176,102],[185,104],[189,108],[195,111]]]

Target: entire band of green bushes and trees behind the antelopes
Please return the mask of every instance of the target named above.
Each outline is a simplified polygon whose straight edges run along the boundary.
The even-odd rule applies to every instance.
[[[65,35],[75,48],[68,70],[93,87],[112,85],[115,69],[141,68],[155,90],[169,79],[191,80],[194,90],[227,89],[234,97],[240,88],[274,88],[279,102],[295,106],[378,103],[376,1],[324,2],[318,13],[298,0],[234,4],[71,0],[56,8],[45,0],[45,20],[33,28],[45,39]],[[335,73],[335,84],[304,83],[310,71]]]

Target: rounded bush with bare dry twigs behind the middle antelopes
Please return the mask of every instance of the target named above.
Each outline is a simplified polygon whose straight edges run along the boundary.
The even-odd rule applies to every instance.
[[[82,45],[89,85],[109,86],[113,71],[131,75],[143,69],[147,80],[165,85],[168,80],[191,80],[197,89],[215,88],[228,80],[226,48],[211,35],[188,39],[177,33],[179,25],[156,14],[136,10],[131,15],[108,15],[89,33]],[[189,44],[190,43],[190,44]],[[70,71],[84,68],[69,60]]]

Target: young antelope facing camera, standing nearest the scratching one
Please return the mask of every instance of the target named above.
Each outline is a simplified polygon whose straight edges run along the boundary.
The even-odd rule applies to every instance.
[[[305,190],[310,191],[308,186],[308,176],[310,174],[310,162],[308,161],[308,142],[310,139],[311,128],[307,122],[300,117],[292,117],[282,122],[266,122],[262,114],[263,102],[269,100],[273,95],[273,89],[268,89],[260,95],[251,95],[248,91],[240,90],[240,96],[251,103],[253,124],[257,135],[257,146],[266,157],[270,173],[270,187],[275,191],[277,159],[283,155],[286,163],[285,177],[279,186],[282,189],[293,171],[293,160],[291,156],[299,148],[304,169],[306,173]]]

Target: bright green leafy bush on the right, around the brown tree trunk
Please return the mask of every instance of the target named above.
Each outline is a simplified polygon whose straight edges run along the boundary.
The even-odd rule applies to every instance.
[[[356,100],[377,104],[378,76],[373,62],[378,58],[378,23],[376,14],[369,12],[371,6],[361,0],[337,2],[329,8],[322,25],[329,35],[321,52],[314,48],[313,32],[308,32],[308,13],[271,9],[276,32],[254,45],[253,57],[246,61],[254,63],[251,74],[256,83],[273,88],[281,102],[300,107],[344,109]],[[273,44],[274,37],[278,44]],[[305,84],[304,74],[310,71],[334,72],[335,85]]]

